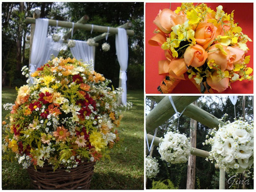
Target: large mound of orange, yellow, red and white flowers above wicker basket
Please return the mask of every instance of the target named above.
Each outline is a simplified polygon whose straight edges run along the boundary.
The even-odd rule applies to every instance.
[[[72,170],[109,157],[119,140],[121,108],[132,104],[118,105],[122,90],[108,87],[110,80],[89,66],[56,57],[31,74],[33,83],[18,89],[10,124],[3,122],[4,151],[15,153],[24,168]]]

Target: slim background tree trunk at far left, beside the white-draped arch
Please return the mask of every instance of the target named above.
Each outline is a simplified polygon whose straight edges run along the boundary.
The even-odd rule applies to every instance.
[[[24,12],[24,2],[20,2],[19,12]],[[22,16],[22,15],[21,15]],[[19,18],[21,20],[21,18]],[[16,53],[16,71],[20,71],[21,69],[21,41],[22,41],[22,26],[19,25],[18,28],[18,38],[17,38],[17,53]]]

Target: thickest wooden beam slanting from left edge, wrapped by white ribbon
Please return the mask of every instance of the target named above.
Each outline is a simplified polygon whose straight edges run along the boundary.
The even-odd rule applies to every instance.
[[[186,106],[199,97],[200,96],[172,96],[172,99],[177,111],[182,112]],[[155,128],[165,123],[174,113],[175,111],[170,103],[169,97],[165,96],[146,116],[147,132],[153,131]]]

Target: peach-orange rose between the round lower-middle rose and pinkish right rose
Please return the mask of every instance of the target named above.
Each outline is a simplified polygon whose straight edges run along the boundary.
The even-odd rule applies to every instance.
[[[211,59],[214,59],[216,63],[216,67],[218,67],[222,71],[225,71],[227,68],[229,57],[230,57],[229,50],[227,50],[227,46],[222,45],[223,50],[227,53],[227,55],[225,55],[215,45],[218,45],[218,44],[214,44],[210,46],[207,59],[209,61]]]

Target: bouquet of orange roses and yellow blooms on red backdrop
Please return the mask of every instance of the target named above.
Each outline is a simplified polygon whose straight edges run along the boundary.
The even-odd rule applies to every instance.
[[[159,11],[156,34],[148,42],[165,51],[166,60],[158,63],[159,75],[165,75],[158,91],[171,93],[185,74],[201,93],[220,93],[237,80],[253,80],[253,69],[246,66],[250,56],[245,56],[252,40],[234,22],[234,12],[222,8],[215,12],[204,3],[182,3],[174,12]]]

